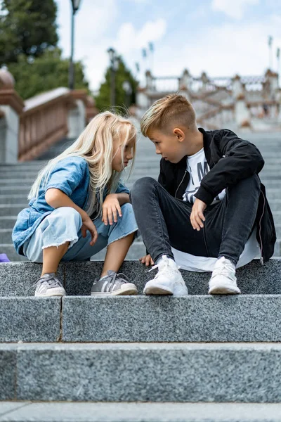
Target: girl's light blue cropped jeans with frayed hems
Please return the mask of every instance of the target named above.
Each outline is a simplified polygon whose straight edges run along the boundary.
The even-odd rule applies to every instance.
[[[122,205],[122,217],[112,226],[105,224],[100,218],[93,220],[98,231],[98,240],[91,246],[91,234],[86,232],[82,237],[82,219],[79,212],[72,207],[56,208],[37,227],[34,234],[23,245],[25,256],[32,262],[43,262],[43,249],[50,246],[60,246],[70,242],[62,261],[84,261],[110,243],[118,241],[138,230],[133,207],[126,203]]]

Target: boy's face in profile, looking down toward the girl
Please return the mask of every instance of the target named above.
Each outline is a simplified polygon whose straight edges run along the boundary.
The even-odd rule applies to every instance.
[[[162,155],[164,160],[176,164],[186,155],[183,142],[185,134],[181,129],[174,129],[166,133],[152,129],[148,131],[148,137],[155,144],[156,153]]]

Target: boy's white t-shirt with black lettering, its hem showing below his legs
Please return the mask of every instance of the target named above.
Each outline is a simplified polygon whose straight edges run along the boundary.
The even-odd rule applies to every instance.
[[[195,193],[200,188],[200,183],[205,174],[209,172],[209,165],[207,163],[204,148],[198,151],[194,155],[190,155],[187,159],[187,170],[190,173],[190,181],[188,186],[183,194],[183,200],[190,203],[195,202]],[[223,189],[221,193],[214,199],[212,204],[217,203],[219,200],[222,200],[226,195],[226,189]],[[187,271],[198,271],[198,272],[208,272],[213,271],[214,264],[216,263],[216,258],[208,257],[195,257],[195,255],[190,255],[190,253],[182,252],[175,248],[171,248],[176,263],[181,266],[182,269]],[[259,243],[256,241],[256,229],[249,237],[242,254],[240,255],[240,260],[237,263],[237,268],[243,267],[248,264],[254,258],[261,257],[261,249],[259,248]]]

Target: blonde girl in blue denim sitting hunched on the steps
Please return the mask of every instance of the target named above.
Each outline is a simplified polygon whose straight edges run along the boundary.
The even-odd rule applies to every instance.
[[[119,181],[135,153],[136,128],[107,111],[39,172],[12,235],[20,255],[43,262],[35,296],[64,296],[55,277],[59,262],[89,260],[105,246],[103,272],[91,295],[138,293],[117,274],[138,229],[129,190]]]

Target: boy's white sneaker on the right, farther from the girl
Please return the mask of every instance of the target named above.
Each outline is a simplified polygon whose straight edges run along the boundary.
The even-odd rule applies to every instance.
[[[209,295],[237,295],[235,265],[225,257],[217,260],[209,281]]]

